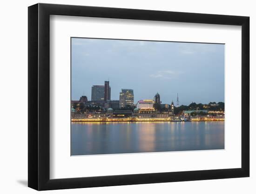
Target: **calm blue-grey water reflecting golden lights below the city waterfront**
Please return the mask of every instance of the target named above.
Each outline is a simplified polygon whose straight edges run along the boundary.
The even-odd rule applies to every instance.
[[[224,122],[71,124],[71,155],[207,149],[224,149]]]

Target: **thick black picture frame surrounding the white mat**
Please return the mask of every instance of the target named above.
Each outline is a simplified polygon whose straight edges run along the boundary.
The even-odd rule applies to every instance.
[[[242,26],[242,167],[151,174],[50,179],[50,15]],[[36,4],[28,7],[28,187],[102,187],[249,176],[249,17],[110,7]]]

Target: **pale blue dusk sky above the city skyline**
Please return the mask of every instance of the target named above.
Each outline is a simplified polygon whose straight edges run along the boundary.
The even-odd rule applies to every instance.
[[[111,100],[134,90],[134,103],[160,94],[162,103],[224,102],[224,44],[72,38],[71,98],[109,80]]]

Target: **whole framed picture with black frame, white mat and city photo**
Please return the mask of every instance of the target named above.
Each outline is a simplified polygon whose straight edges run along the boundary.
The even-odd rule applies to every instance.
[[[28,7],[28,187],[249,176],[249,17]]]

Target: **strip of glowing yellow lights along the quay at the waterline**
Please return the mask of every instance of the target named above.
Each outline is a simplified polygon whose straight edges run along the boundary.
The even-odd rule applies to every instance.
[[[224,118],[199,118],[191,119],[187,121],[224,121]],[[163,121],[183,121],[183,120],[174,120],[171,118],[97,118],[97,119],[71,119],[71,122],[163,122]],[[186,121],[186,122],[187,122]]]

